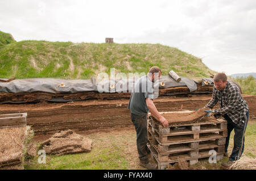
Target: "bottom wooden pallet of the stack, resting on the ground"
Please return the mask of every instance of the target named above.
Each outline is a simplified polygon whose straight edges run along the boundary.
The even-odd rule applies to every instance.
[[[168,159],[165,158],[164,161],[162,161],[162,160],[159,160],[159,154],[154,149],[154,147],[151,146],[151,144],[148,143],[147,147],[148,147],[148,149],[150,149],[151,157],[153,159],[155,159],[155,161],[158,163],[158,169],[159,170],[166,169],[166,167],[168,165],[170,165],[172,163],[179,162],[179,159],[183,159],[184,161],[188,161],[189,165],[194,165],[199,161],[199,159],[209,158],[211,156],[209,154],[209,149],[207,149],[207,150],[202,149],[202,150],[198,151],[198,154],[196,156],[195,155],[189,155],[188,153],[184,152],[182,154],[172,155],[172,156],[168,157]],[[217,155],[216,155],[217,161],[223,159],[224,153],[222,151],[221,152],[218,152],[218,150],[216,150],[216,151],[217,151]],[[160,157],[160,159],[162,159],[162,158]]]

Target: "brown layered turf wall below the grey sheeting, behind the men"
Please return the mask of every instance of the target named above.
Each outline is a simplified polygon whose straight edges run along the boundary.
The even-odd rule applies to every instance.
[[[204,107],[212,95],[159,96],[154,100],[158,111],[195,110]],[[256,116],[256,96],[243,95]],[[61,130],[91,131],[93,129],[124,128],[133,125],[129,99],[83,100],[68,103],[0,104],[0,114],[27,112],[27,125],[35,134],[50,134]],[[218,103],[215,106],[218,108]]]

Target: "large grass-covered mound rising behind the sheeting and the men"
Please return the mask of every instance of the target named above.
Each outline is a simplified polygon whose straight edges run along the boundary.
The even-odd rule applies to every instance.
[[[151,66],[159,66],[163,75],[174,70],[195,79],[216,73],[200,58],[161,44],[16,42],[10,34],[0,34],[0,78],[88,79],[110,74],[110,68],[116,73],[147,73]]]

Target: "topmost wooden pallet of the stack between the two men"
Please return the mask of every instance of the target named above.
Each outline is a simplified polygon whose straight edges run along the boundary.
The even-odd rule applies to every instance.
[[[209,123],[207,124],[199,124],[196,125],[190,124],[185,126],[180,126],[181,129],[171,130],[170,127],[168,128],[168,133],[163,133],[162,131],[159,132],[160,125],[158,128],[155,129],[153,123],[148,121],[148,132],[151,137],[154,137],[159,144],[181,144],[185,142],[196,142],[196,141],[206,141],[210,139],[217,139],[217,138],[225,138],[228,136],[228,131],[226,129],[226,122],[218,122],[218,123]],[[187,127],[191,128],[188,129]],[[166,129],[166,128],[163,128]],[[167,131],[167,129],[166,129]]]

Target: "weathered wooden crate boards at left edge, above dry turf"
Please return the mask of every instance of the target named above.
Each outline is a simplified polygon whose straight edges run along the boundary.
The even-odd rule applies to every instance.
[[[0,129],[24,127],[27,125],[27,113],[0,115]]]

